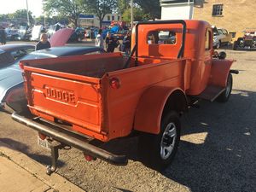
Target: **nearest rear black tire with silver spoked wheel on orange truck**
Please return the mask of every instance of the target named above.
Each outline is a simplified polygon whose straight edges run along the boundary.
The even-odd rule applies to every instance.
[[[177,153],[180,129],[178,115],[171,111],[163,115],[158,135],[143,133],[138,139],[138,153],[143,164],[157,171],[169,166]]]

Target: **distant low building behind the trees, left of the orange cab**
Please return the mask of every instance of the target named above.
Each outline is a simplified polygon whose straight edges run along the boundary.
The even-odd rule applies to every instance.
[[[121,15],[118,14],[107,14],[102,20],[102,26],[110,26],[111,22],[121,20]],[[100,27],[100,20],[96,15],[79,15],[79,26],[82,27],[91,27],[96,26]]]

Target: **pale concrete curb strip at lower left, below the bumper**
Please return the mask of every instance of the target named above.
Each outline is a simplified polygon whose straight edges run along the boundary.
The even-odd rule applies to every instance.
[[[46,167],[39,164],[36,160],[32,160],[26,154],[16,151],[6,143],[0,142],[0,152],[12,160],[16,165],[25,169],[27,172],[37,177],[43,183],[47,184],[53,191],[84,191],[77,185],[69,182],[66,178],[61,177],[57,173],[50,176],[45,173]]]

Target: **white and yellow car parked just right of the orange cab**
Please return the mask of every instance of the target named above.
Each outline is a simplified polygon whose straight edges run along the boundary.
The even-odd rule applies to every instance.
[[[213,31],[213,48],[218,49],[222,45],[228,45],[232,41],[232,34],[224,28],[212,26]]]

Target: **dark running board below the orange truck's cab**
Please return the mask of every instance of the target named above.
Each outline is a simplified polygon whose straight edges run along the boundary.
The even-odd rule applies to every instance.
[[[224,92],[225,88],[216,85],[208,85],[207,88],[195,97],[213,102],[220,94]]]

